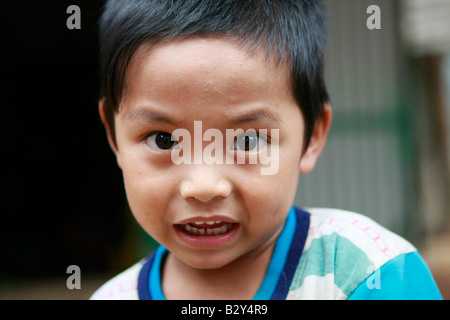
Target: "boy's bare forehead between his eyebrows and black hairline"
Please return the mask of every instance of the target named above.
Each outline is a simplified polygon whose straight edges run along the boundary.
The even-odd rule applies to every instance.
[[[227,104],[289,93],[287,68],[263,50],[250,52],[225,37],[190,37],[142,45],[126,73],[124,96],[195,99],[223,95]],[[272,92],[273,93],[273,92]]]

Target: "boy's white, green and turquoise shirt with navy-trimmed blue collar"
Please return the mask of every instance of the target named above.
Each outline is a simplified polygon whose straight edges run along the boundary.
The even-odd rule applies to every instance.
[[[165,299],[163,246],[91,299]],[[256,300],[442,299],[417,249],[358,213],[292,207]]]

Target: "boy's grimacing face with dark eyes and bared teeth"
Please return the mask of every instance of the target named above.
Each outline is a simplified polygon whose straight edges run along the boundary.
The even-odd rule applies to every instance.
[[[115,115],[117,147],[112,146],[135,218],[194,268],[220,268],[271,248],[293,203],[298,174],[314,166],[327,128],[302,154],[304,121],[287,71],[269,63],[264,53],[250,56],[224,38],[149,48],[141,47],[127,70]],[[101,102],[105,119],[103,108]],[[277,172],[262,175],[259,162],[174,163],[170,134],[187,129],[194,144],[203,137],[198,129],[194,133],[194,121],[201,121],[201,134],[213,128],[224,139],[227,129],[267,129],[269,136],[278,130],[278,157],[272,159],[278,161]],[[232,145],[223,141],[223,157],[271,147],[270,137],[240,138]],[[192,153],[210,143],[203,138]]]

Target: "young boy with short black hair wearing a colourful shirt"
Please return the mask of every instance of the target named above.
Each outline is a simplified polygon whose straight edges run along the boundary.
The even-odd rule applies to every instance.
[[[317,0],[106,4],[100,115],[161,246],[93,299],[440,298],[404,239],[292,206],[331,122],[326,32]]]

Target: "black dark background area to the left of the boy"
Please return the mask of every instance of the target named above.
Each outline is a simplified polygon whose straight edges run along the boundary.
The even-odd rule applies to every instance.
[[[81,30],[69,30],[69,5]],[[0,284],[111,268],[124,191],[98,109],[103,1],[2,1]]]

